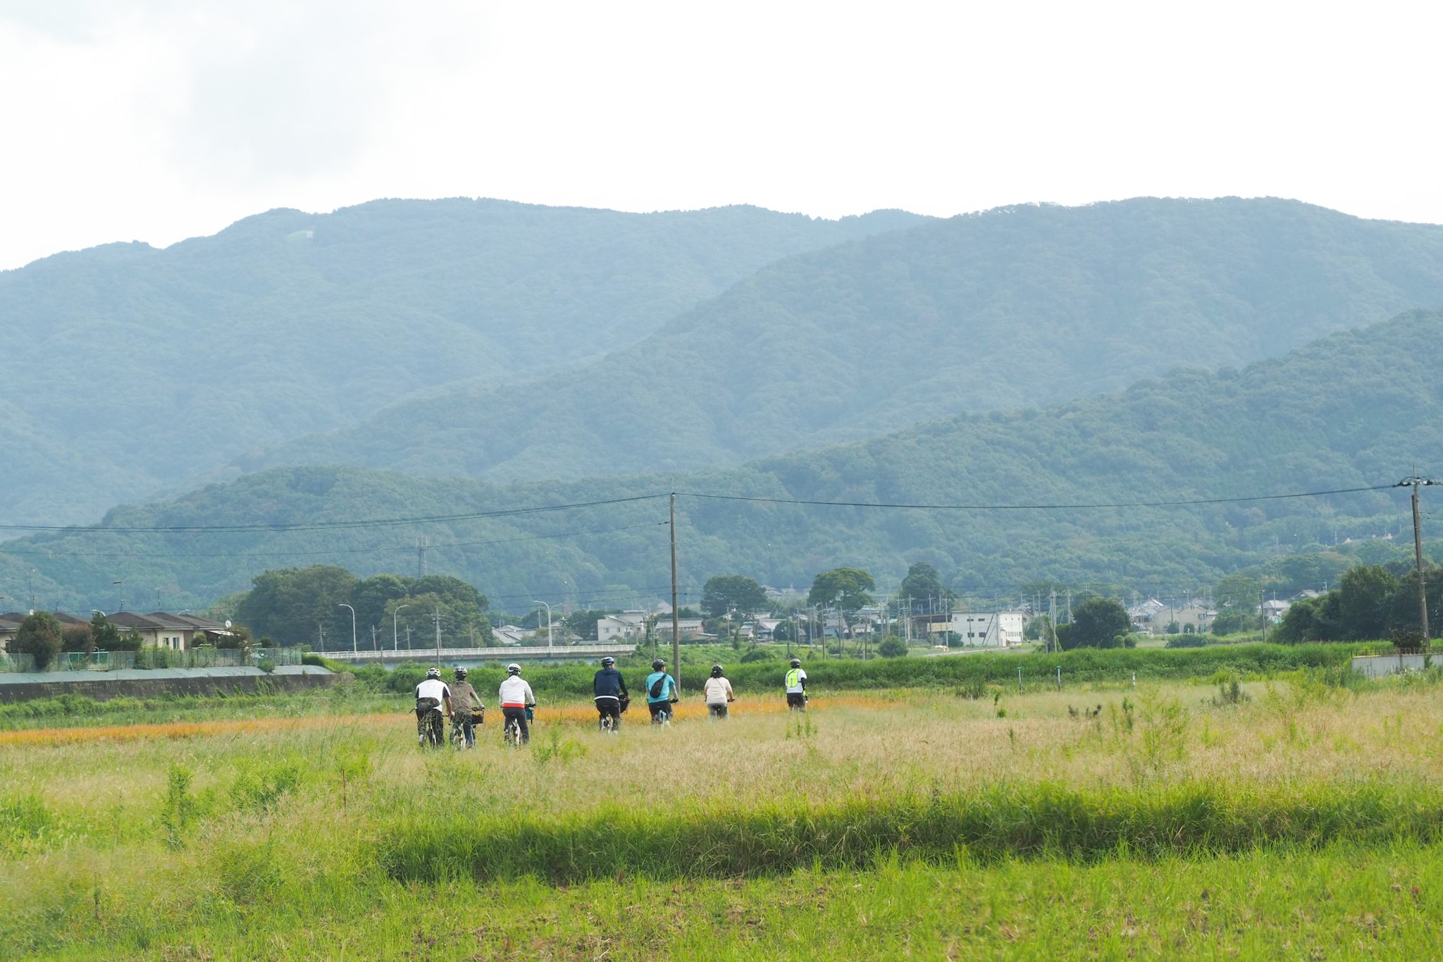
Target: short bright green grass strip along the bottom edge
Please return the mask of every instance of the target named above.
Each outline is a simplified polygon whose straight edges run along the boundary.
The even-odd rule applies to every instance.
[[[89,877],[0,920],[10,958],[105,959],[1434,959],[1443,851],[1408,842],[1156,861],[801,870],[782,878],[557,888],[335,875],[199,891]],[[189,881],[159,868],[157,890]],[[66,910],[61,910],[61,904]]]

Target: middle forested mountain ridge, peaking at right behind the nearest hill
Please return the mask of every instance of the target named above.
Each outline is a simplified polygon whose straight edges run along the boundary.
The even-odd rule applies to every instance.
[[[1007,208],[779,261],[589,368],[401,404],[267,463],[688,470],[1241,365],[1439,304],[1439,226],[1271,199]]]

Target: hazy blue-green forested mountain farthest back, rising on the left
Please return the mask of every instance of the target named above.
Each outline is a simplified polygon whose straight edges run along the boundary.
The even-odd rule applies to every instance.
[[[0,521],[91,519],[417,392],[554,371],[779,257],[919,221],[377,200],[4,271]]]

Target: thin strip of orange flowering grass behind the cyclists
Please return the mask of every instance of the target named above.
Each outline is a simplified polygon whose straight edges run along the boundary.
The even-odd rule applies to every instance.
[[[632,702],[641,717],[646,717],[645,702]],[[893,698],[880,695],[830,695],[817,698],[812,707],[823,708],[866,708],[886,710],[900,705]],[[737,714],[779,714],[786,711],[782,698],[737,698],[732,704],[732,711]],[[706,705],[687,700],[675,705],[675,718],[680,721],[704,718]],[[492,717],[499,712],[492,710]],[[628,712],[629,717],[636,715]],[[543,724],[560,721],[563,724],[590,724],[596,721],[596,708],[590,704],[557,705],[554,708],[541,707],[537,718]],[[203,738],[209,736],[245,734],[260,731],[294,731],[302,728],[317,728],[325,725],[348,724],[381,727],[405,731],[416,727],[416,720],[410,712],[374,712],[365,715],[304,715],[300,718],[232,718],[224,721],[162,721],[154,724],[133,725],[94,725],[85,728],[22,728],[17,731],[0,731],[0,747],[35,746],[35,744],[74,744],[82,741],[136,741],[143,738]]]

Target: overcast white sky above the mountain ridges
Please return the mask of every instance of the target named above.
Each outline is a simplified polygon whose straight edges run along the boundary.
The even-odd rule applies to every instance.
[[[1443,222],[1440,3],[0,0],[0,268],[277,206]]]

